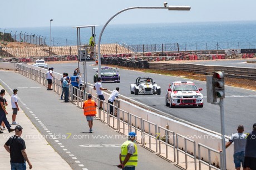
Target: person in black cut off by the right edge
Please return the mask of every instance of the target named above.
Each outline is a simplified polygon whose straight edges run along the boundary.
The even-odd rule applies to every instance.
[[[247,142],[244,154],[244,167],[256,169],[256,123],[253,124],[253,131],[247,134]]]

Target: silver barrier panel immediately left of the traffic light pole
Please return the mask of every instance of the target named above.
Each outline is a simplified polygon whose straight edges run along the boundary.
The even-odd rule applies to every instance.
[[[203,159],[201,158],[201,147],[205,148],[206,150],[208,150],[208,162],[203,161]],[[218,153],[219,154],[219,160],[221,160],[222,157],[222,152],[214,150],[213,148],[210,148],[208,146],[205,146],[201,143],[198,143],[198,159],[199,159],[199,170],[201,170],[201,163],[204,163],[205,165],[207,165],[209,167],[209,169],[214,168],[214,169],[219,169],[218,165],[215,164],[215,166],[211,165],[211,151]],[[220,161],[221,162],[221,161]],[[218,164],[218,163],[217,163]],[[217,167],[216,167],[217,166]]]

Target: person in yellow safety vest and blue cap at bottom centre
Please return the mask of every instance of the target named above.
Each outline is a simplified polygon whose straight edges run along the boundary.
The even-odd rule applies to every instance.
[[[122,143],[119,155],[120,164],[117,166],[124,170],[134,170],[138,162],[137,146],[135,145],[136,133],[130,132],[128,140]]]

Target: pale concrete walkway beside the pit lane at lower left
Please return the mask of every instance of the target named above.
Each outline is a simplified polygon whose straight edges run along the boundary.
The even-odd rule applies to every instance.
[[[0,85],[0,89],[4,89]],[[8,102],[7,106],[7,120],[12,122],[12,106],[11,96],[6,92],[4,98]],[[21,103],[19,102],[19,105]],[[72,169],[69,164],[64,161],[61,156],[53,150],[48,144],[45,138],[41,137],[41,133],[24,114],[21,107],[19,107],[17,122],[23,127],[22,138],[26,142],[26,152],[29,161],[32,163],[33,169]],[[16,125],[11,125],[11,128],[15,128]],[[2,170],[11,169],[9,153],[4,149],[3,145],[9,137],[15,135],[15,132],[8,133],[8,130],[4,130],[4,133],[0,134],[0,164]],[[28,169],[27,164],[27,169]]]

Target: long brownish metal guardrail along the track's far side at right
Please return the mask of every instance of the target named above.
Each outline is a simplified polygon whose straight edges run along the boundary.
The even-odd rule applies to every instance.
[[[256,68],[149,62],[149,69],[194,71],[195,73],[199,74],[210,74],[214,73],[214,71],[225,71],[225,76],[229,78],[244,78],[256,80]]]

